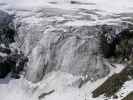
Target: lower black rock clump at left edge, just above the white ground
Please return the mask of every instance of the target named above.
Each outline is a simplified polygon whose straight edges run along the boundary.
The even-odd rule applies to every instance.
[[[23,54],[9,54],[1,57],[0,61],[0,78],[4,78],[11,72],[11,77],[19,78],[19,74],[23,71],[28,58]]]

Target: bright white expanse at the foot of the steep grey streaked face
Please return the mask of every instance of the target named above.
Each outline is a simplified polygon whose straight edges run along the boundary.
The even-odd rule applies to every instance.
[[[80,89],[78,88],[80,77],[59,71],[49,73],[42,81],[36,84],[23,78],[14,80],[7,77],[5,82],[3,80],[0,81],[0,97],[2,98],[1,100],[39,100],[38,96],[42,93],[54,90],[52,94],[42,98],[42,100],[103,100],[104,96],[92,98],[91,92],[109,76],[113,73],[118,73],[122,68],[124,67],[119,65],[112,69],[112,72],[107,77],[95,82],[88,82]],[[132,83],[125,83],[124,91],[130,92],[133,90],[133,88],[130,88]],[[123,89],[121,92],[123,92]]]

